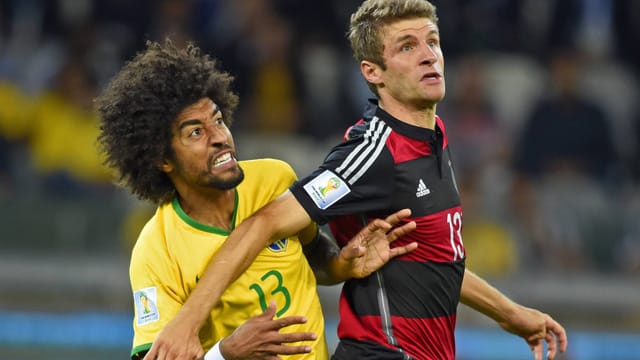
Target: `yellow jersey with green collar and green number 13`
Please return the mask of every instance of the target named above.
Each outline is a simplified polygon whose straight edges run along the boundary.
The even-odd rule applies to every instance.
[[[244,181],[236,188],[232,228],[281,195],[295,181],[291,167],[279,160],[242,161]],[[131,355],[148,350],[162,328],[178,313],[195,288],[209,260],[229,231],[190,218],[177,199],[164,204],[145,225],[134,246],[129,276],[134,297],[134,339]],[[316,280],[297,237],[265,247],[251,266],[223,293],[202,327],[207,351],[250,317],[277,304],[276,317],[304,315],[307,323],[286,332],[318,334],[305,355],[287,359],[328,359],[324,319]]]

